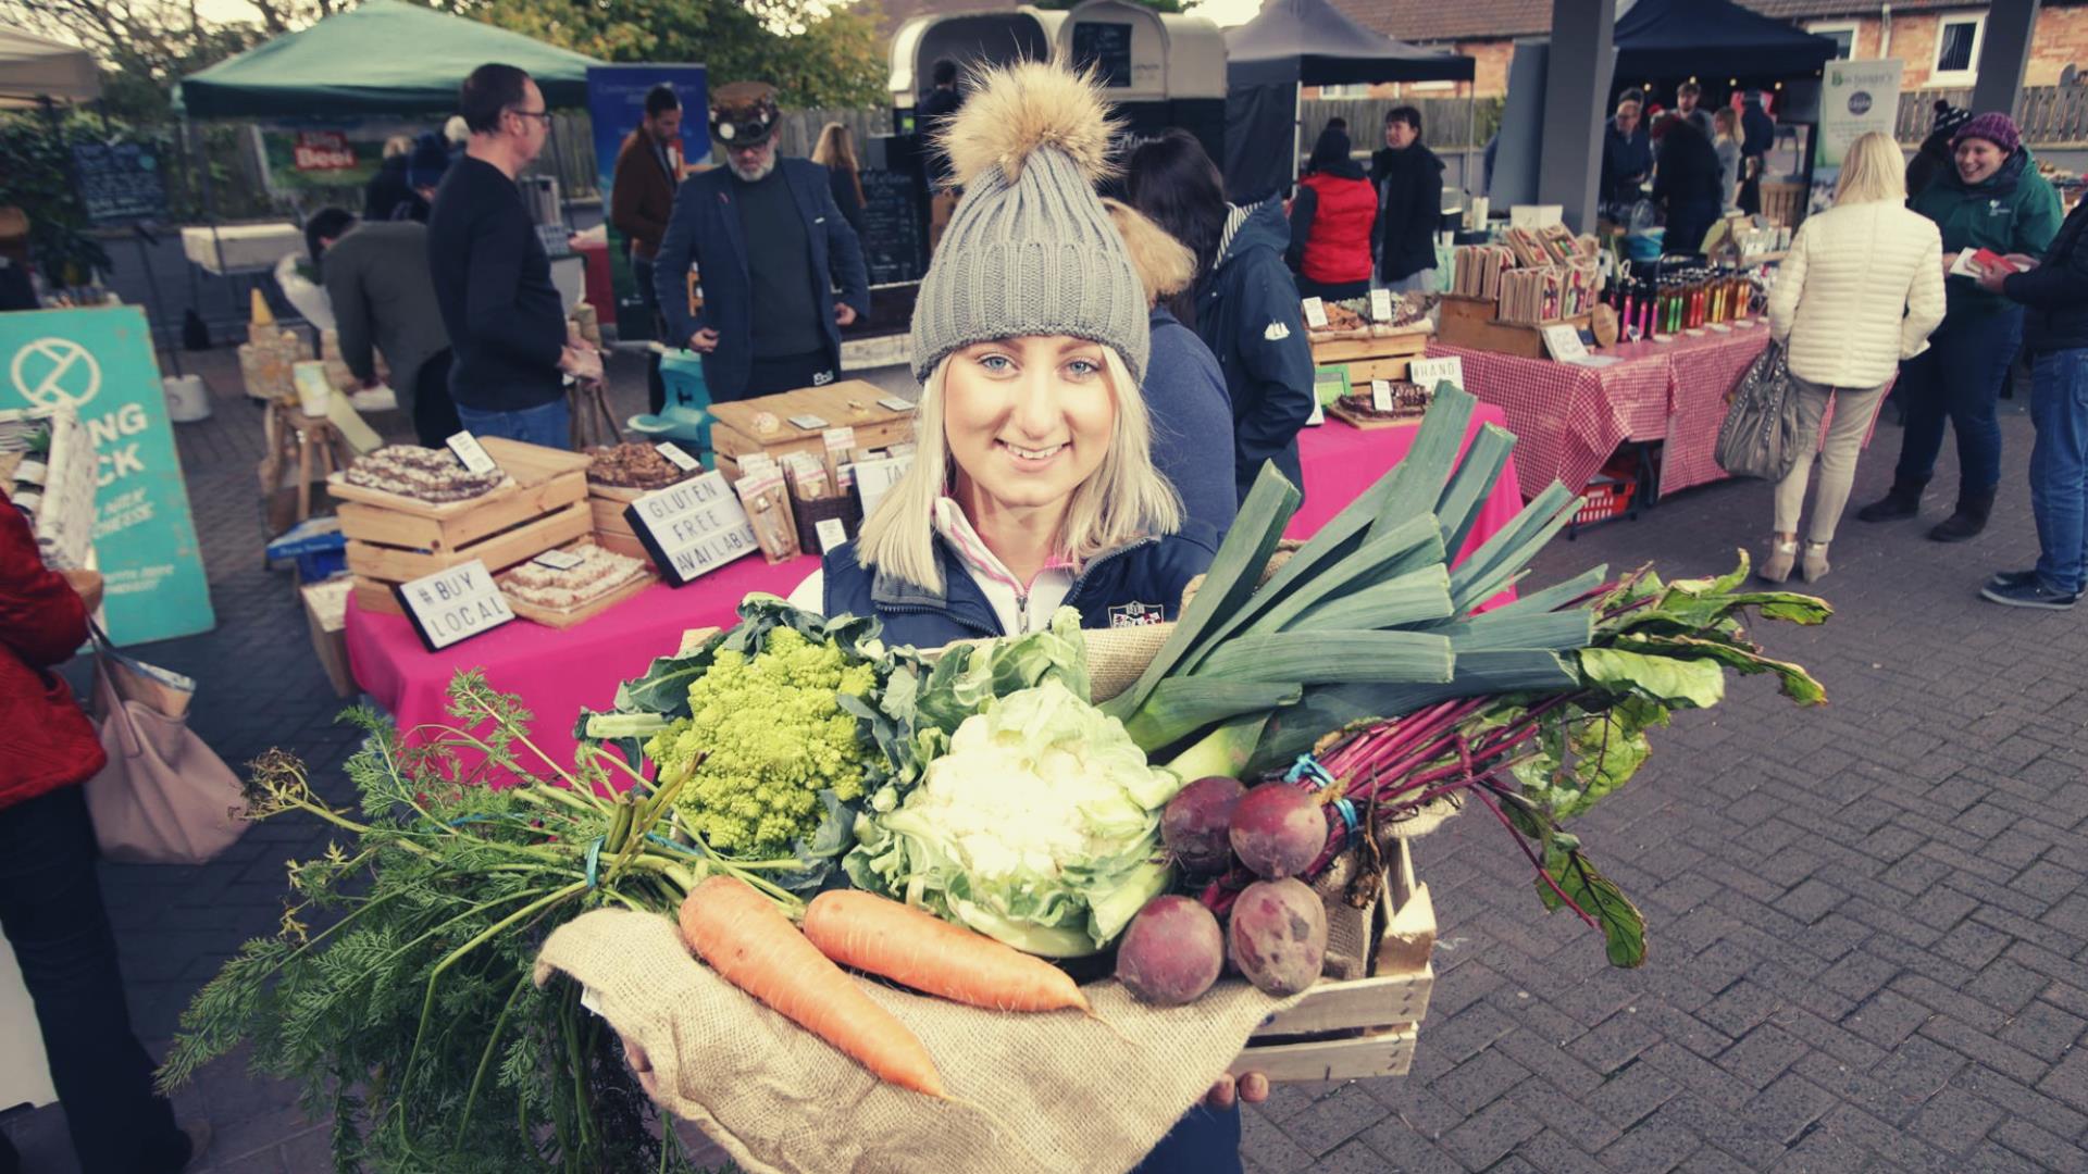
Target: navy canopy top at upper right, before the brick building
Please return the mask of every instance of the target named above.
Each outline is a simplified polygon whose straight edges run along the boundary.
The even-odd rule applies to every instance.
[[[1810,77],[1835,44],[1731,0],[1639,0],[1616,19],[1616,79]]]

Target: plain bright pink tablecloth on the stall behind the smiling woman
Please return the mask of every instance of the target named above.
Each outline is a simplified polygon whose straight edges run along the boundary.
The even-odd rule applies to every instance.
[[[1501,424],[1501,409],[1480,405],[1472,428],[1478,424]],[[1305,508],[1292,520],[1290,537],[1309,537],[1326,524],[1399,464],[1411,445],[1414,428],[1363,432],[1340,422],[1309,428],[1299,439]],[[1510,464],[1480,508],[1466,549],[1505,526],[1520,508]],[[495,689],[522,696],[537,714],[530,737],[564,765],[572,758],[572,719],[583,706],[608,708],[618,681],[637,677],[656,656],[672,654],[683,631],[731,625],[743,595],[789,595],[814,566],[812,558],[770,566],[760,556],[748,556],[689,587],[654,587],[572,629],[516,620],[434,654],[422,648],[405,618],[365,612],[349,600],[349,671],[401,729],[411,731],[447,721],[443,694],[449,679],[461,668],[482,668]]]

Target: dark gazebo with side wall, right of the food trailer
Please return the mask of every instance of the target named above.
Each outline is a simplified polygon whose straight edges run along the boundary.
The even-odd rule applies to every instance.
[[[1297,175],[1303,86],[1472,79],[1470,56],[1395,42],[1328,0],[1270,0],[1226,31],[1226,192],[1234,201],[1270,196]],[[1276,148],[1284,140],[1288,159]]]

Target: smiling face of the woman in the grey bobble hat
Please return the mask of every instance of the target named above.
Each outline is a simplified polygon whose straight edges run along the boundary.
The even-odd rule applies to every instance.
[[[950,355],[942,395],[958,487],[1006,510],[1069,501],[1117,428],[1102,345],[1065,334],[973,343]]]

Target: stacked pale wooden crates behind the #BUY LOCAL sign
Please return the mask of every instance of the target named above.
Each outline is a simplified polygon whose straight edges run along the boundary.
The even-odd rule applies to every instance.
[[[585,455],[499,437],[480,443],[509,485],[470,501],[420,501],[340,476],[328,483],[340,499],[334,514],[349,539],[355,602],[363,610],[399,614],[393,595],[399,583],[474,558],[501,572],[589,533]]]

